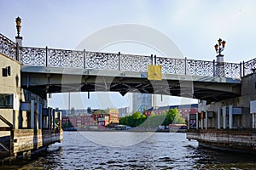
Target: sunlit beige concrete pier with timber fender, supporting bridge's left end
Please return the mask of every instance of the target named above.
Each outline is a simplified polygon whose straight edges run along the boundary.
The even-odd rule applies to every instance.
[[[0,68],[9,70],[7,75],[0,74],[0,158],[22,156],[61,142],[61,114],[55,117],[44,98],[20,88],[18,61],[1,53],[0,61]],[[43,111],[50,114],[43,115]],[[50,122],[46,124],[45,119]]]

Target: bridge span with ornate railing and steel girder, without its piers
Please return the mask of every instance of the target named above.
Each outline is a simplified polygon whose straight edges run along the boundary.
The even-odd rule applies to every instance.
[[[256,59],[241,63],[174,59],[133,54],[19,47],[0,34],[0,52],[20,61],[21,88],[46,94],[114,91],[204,99],[241,95],[241,78],[255,71]],[[162,66],[162,81],[148,80],[148,65]]]

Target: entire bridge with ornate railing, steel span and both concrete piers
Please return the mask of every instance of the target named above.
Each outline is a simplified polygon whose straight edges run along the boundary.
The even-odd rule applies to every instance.
[[[0,149],[11,156],[61,141],[61,113],[45,105],[46,94],[93,91],[125,95],[139,90],[207,100],[210,105],[202,102],[200,115],[189,117],[201,130],[188,131],[187,138],[200,144],[255,150],[254,131],[244,129],[256,127],[256,113],[248,111],[256,103],[256,59],[227,63],[20,47],[1,34],[0,56],[0,91],[8,104],[4,107],[11,108],[0,116],[0,126],[5,124],[0,127]],[[148,65],[161,65],[162,80],[148,79]],[[56,132],[55,120],[59,122]]]

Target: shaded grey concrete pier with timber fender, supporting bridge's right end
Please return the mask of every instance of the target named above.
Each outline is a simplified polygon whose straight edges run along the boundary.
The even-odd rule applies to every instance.
[[[187,139],[199,144],[228,150],[256,153],[256,73],[242,77],[241,97],[207,105],[207,127],[187,131]],[[202,125],[201,125],[202,126]]]

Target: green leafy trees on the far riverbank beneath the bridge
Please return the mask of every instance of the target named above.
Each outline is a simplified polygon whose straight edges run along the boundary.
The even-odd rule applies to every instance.
[[[183,124],[185,120],[179,115],[177,108],[164,111],[161,115],[154,112],[150,116],[145,116],[140,112],[133,112],[131,116],[120,118],[120,124],[131,127],[158,127],[160,125],[168,126],[169,124]]]

